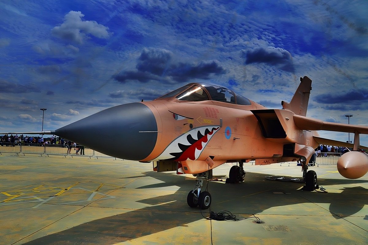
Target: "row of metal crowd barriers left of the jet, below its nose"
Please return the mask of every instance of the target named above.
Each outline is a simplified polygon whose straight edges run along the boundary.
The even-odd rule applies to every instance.
[[[1,153],[14,153],[14,154],[39,154],[39,155],[70,155],[71,157],[111,157],[90,148],[82,147],[77,154],[77,148],[72,145],[70,151],[68,151],[67,145],[60,144],[20,144],[20,143],[4,143],[0,144]],[[114,157],[112,157],[114,158]],[[115,158],[116,159],[116,158]]]

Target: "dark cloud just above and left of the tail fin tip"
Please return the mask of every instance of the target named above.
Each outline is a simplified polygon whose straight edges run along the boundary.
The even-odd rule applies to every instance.
[[[284,49],[269,47],[241,50],[241,57],[245,59],[245,64],[265,63],[283,71],[295,71],[291,54]]]

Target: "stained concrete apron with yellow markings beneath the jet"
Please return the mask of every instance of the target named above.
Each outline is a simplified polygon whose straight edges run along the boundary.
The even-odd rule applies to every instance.
[[[245,164],[245,181],[214,169],[210,209],[190,208],[192,175],[111,158],[0,155],[0,244],[367,244],[368,176],[310,167],[325,192],[265,176],[301,176],[296,163]],[[220,181],[223,180],[223,181]],[[241,221],[206,220],[228,210]],[[203,216],[202,216],[203,215]]]

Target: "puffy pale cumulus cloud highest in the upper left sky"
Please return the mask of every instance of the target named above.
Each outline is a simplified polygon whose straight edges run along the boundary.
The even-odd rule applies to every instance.
[[[65,15],[63,24],[52,29],[52,34],[79,44],[82,44],[88,35],[102,39],[110,37],[111,33],[108,32],[108,27],[98,24],[96,21],[83,21],[82,17],[84,14],[81,11],[70,11]]]

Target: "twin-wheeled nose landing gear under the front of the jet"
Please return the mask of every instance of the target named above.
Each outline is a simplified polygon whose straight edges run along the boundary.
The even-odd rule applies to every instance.
[[[212,202],[211,194],[207,191],[201,192],[205,179],[208,179],[208,171],[197,175],[197,182],[187,196],[187,203],[190,207],[199,206],[201,209],[208,209],[210,207]]]

